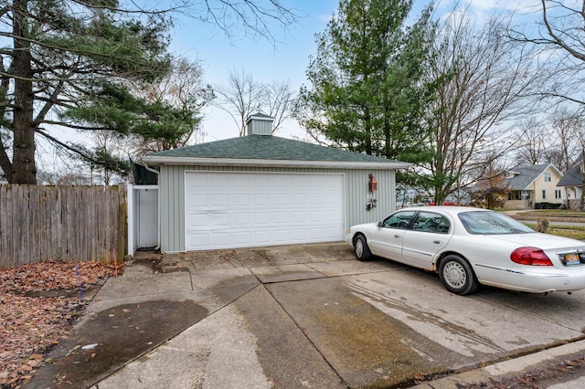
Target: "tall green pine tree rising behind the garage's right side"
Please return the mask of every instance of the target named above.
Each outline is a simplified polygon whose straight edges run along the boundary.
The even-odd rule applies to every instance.
[[[407,26],[410,0],[341,0],[317,36],[296,117],[315,138],[388,159],[429,157],[420,117],[434,26],[431,7]]]

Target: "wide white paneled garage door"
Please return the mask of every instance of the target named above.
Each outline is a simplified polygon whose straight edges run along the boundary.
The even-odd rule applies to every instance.
[[[186,250],[344,239],[340,174],[186,173]]]

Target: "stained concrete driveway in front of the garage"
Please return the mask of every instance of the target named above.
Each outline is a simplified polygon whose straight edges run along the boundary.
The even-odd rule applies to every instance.
[[[30,387],[408,387],[580,340],[583,309],[585,291],[453,295],[345,243],[137,257]]]

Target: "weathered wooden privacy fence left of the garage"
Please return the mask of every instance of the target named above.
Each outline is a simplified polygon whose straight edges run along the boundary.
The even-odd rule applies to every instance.
[[[48,259],[122,262],[126,190],[118,186],[0,185],[0,267]]]

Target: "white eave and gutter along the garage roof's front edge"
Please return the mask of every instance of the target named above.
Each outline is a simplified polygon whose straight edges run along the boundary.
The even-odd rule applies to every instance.
[[[313,167],[341,169],[405,169],[411,163],[403,162],[350,162],[350,161],[293,161],[293,160],[250,160],[197,157],[144,156],[144,163],[151,165],[206,165],[206,166],[255,166],[255,167]]]

